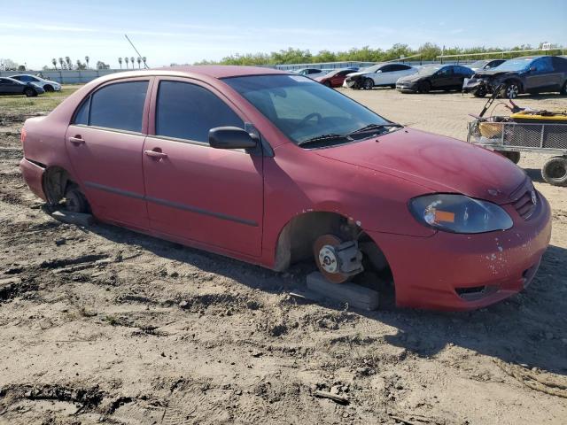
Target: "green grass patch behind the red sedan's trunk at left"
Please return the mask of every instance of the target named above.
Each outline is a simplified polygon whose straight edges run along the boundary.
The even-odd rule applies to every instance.
[[[80,89],[81,85],[63,86],[61,91],[43,93],[38,97],[2,96],[0,97],[0,113],[6,112],[11,115],[22,113],[51,112],[66,97]]]

